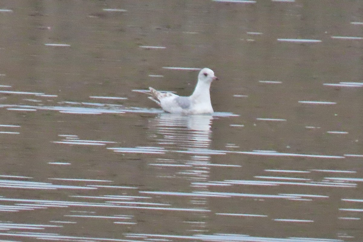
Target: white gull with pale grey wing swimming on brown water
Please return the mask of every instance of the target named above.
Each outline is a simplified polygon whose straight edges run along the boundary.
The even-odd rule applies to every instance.
[[[203,68],[198,74],[194,92],[188,97],[178,96],[171,92],[159,92],[149,87],[152,101],[168,113],[203,114],[213,113],[209,88],[213,80],[218,80],[209,68]]]

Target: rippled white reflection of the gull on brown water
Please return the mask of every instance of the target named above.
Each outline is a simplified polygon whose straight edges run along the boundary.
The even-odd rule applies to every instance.
[[[153,160],[156,167],[160,167],[156,173],[160,179],[181,179],[189,183],[189,189],[184,191],[200,192],[208,191],[208,187],[197,185],[201,181],[209,181],[211,155],[196,154],[193,150],[209,150],[211,146],[212,115],[189,115],[162,113],[149,120],[149,135],[158,143],[158,146],[171,151],[169,156]],[[180,152],[180,153],[179,153]],[[163,167],[163,168],[162,168]],[[165,191],[165,188],[162,189]],[[174,190],[172,190],[174,191]],[[193,197],[188,206],[205,209],[208,207],[208,199],[205,197]],[[205,230],[207,214],[199,213],[193,217],[198,223],[190,224],[189,231]]]

